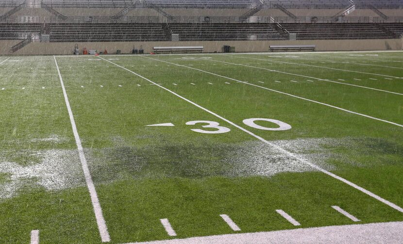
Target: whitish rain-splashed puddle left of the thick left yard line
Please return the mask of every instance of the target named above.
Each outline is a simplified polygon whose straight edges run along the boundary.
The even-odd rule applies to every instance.
[[[63,190],[85,186],[77,150],[22,150],[30,157],[24,164],[10,160],[9,152],[0,154],[0,199],[16,196],[19,190],[42,187]]]

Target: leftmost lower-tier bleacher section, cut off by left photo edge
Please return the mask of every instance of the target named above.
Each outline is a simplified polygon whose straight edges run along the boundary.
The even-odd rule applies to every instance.
[[[0,40],[23,40],[41,33],[41,24],[0,23]]]

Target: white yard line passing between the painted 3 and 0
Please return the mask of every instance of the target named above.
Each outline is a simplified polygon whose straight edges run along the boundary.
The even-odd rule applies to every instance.
[[[99,56],[98,56],[98,57],[99,57]],[[354,184],[353,182],[351,182],[351,181],[349,181],[349,180],[347,180],[347,179],[341,178],[341,177],[339,177],[339,176],[337,176],[337,175],[331,173],[330,171],[327,171],[327,170],[325,170],[325,169],[319,167],[318,165],[316,165],[316,164],[314,164],[314,163],[311,163],[311,162],[309,162],[309,161],[307,161],[307,160],[305,160],[305,159],[303,159],[303,158],[298,157],[297,155],[295,155],[295,154],[293,154],[293,153],[291,153],[291,152],[285,150],[283,147],[277,146],[277,145],[275,145],[275,144],[273,144],[273,143],[267,141],[267,140],[264,139],[263,137],[260,137],[260,136],[258,136],[258,135],[256,135],[256,134],[254,134],[253,132],[251,132],[251,131],[249,131],[249,130],[246,130],[245,128],[243,128],[243,127],[241,127],[241,126],[238,126],[238,125],[235,124],[234,122],[232,122],[232,121],[230,121],[230,120],[228,120],[228,119],[226,119],[226,118],[224,118],[224,117],[222,117],[222,116],[220,116],[220,115],[218,115],[218,114],[216,114],[216,113],[214,113],[214,112],[212,112],[212,111],[210,111],[210,110],[208,110],[208,109],[202,107],[201,105],[199,105],[199,104],[197,104],[197,103],[195,103],[195,102],[193,102],[193,101],[191,101],[191,100],[189,100],[189,99],[187,99],[187,98],[185,98],[185,97],[182,97],[181,95],[179,95],[179,94],[177,94],[177,93],[175,93],[175,92],[169,90],[168,88],[166,88],[166,87],[164,87],[164,86],[162,86],[162,85],[159,85],[159,84],[155,83],[154,81],[151,81],[150,79],[147,79],[147,78],[145,78],[144,76],[141,76],[141,75],[135,73],[134,71],[132,71],[132,70],[130,70],[130,69],[127,69],[127,68],[125,68],[125,67],[122,67],[121,65],[115,64],[115,63],[113,63],[113,62],[111,62],[111,61],[109,61],[109,60],[106,60],[106,59],[102,58],[102,57],[99,57],[99,58],[101,58],[101,59],[103,59],[103,60],[105,60],[105,61],[107,61],[107,62],[109,62],[109,63],[111,63],[111,64],[114,64],[114,65],[116,65],[116,66],[118,66],[118,67],[120,67],[120,68],[122,68],[122,69],[124,69],[124,70],[127,70],[127,71],[129,71],[130,73],[132,73],[132,74],[134,74],[134,75],[136,75],[136,76],[138,76],[138,77],[140,77],[140,78],[142,78],[142,79],[144,79],[144,80],[146,80],[146,81],[149,81],[150,83],[152,83],[152,84],[154,84],[154,85],[156,85],[156,86],[158,86],[158,87],[160,87],[160,88],[162,88],[162,89],[168,91],[169,93],[175,95],[176,97],[181,98],[181,99],[187,101],[187,102],[190,103],[190,104],[193,104],[194,106],[200,108],[201,110],[204,110],[205,112],[207,112],[207,113],[209,113],[209,114],[212,114],[212,115],[218,117],[219,119],[222,119],[223,121],[225,121],[225,122],[227,122],[228,124],[234,126],[235,128],[238,128],[239,130],[242,130],[242,131],[244,131],[244,132],[250,134],[251,136],[255,137],[256,139],[260,140],[261,142],[263,142],[263,143],[265,143],[265,144],[267,144],[267,145],[269,145],[269,146],[272,146],[272,147],[278,149],[280,152],[283,152],[285,155],[288,155],[288,156],[290,156],[290,157],[292,157],[292,158],[294,158],[294,159],[296,159],[296,160],[299,160],[300,162],[305,163],[305,164],[307,164],[307,165],[309,165],[309,166],[311,166],[311,167],[317,169],[318,171],[320,171],[320,172],[322,172],[322,173],[325,173],[325,174],[328,175],[328,176],[331,176],[331,177],[333,177],[333,178],[335,178],[335,179],[338,179],[338,180],[340,180],[340,181],[342,181],[342,182],[344,182],[344,183],[346,183],[346,184],[352,186],[353,188],[357,189],[358,191],[361,191],[362,193],[365,193],[365,194],[367,194],[367,195],[369,195],[369,196],[371,196],[371,197],[377,199],[378,201],[381,201],[381,202],[385,203],[386,205],[388,205],[389,207],[391,207],[391,208],[393,208],[393,209],[395,209],[395,210],[397,210],[397,211],[403,212],[403,209],[402,209],[401,207],[399,207],[398,205],[396,205],[396,204],[394,204],[394,203],[392,203],[392,202],[390,202],[390,201],[388,201],[388,200],[386,200],[386,199],[380,197],[379,195],[376,195],[376,194],[374,194],[374,193],[372,193],[372,192],[370,192],[370,191],[368,191],[368,190],[366,190],[366,189],[364,189],[364,188],[362,188],[362,187],[360,187],[360,186]],[[246,83],[246,82],[244,82],[244,81],[242,81],[242,82],[243,82],[243,83]],[[403,127],[403,126],[402,126],[402,127]]]

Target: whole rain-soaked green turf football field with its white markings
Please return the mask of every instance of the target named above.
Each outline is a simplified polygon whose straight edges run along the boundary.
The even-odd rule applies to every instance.
[[[402,228],[402,54],[0,56],[0,243]]]

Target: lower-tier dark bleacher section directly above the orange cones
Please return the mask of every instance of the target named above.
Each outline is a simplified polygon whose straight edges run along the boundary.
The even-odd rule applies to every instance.
[[[159,23],[50,24],[50,42],[168,41]]]

